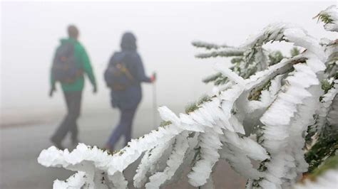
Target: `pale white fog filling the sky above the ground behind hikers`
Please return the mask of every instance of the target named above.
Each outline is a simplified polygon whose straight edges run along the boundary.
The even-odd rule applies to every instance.
[[[317,2],[1,2],[1,117],[32,112],[53,112],[64,106],[60,86],[48,97],[51,59],[66,26],[80,30],[79,41],[91,58],[98,94],[86,80],[83,110],[111,109],[103,82],[112,53],[120,49],[121,35],[138,38],[145,70],[158,73],[158,105],[183,109],[208,93],[201,80],[213,72],[213,63],[228,59],[198,60],[201,40],[240,45],[267,24],[296,23],[316,38],[332,38],[312,17],[335,1]],[[288,53],[290,45],[270,45]],[[143,85],[141,108],[151,108],[153,85]],[[39,114],[36,114],[39,115]]]

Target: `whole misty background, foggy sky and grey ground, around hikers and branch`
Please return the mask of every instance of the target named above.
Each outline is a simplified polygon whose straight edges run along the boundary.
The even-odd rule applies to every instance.
[[[315,38],[337,38],[312,19],[332,4],[336,1],[0,1],[0,188],[51,188],[53,180],[65,180],[73,174],[36,161],[41,150],[52,145],[50,136],[66,114],[61,87],[57,85],[53,98],[48,92],[53,54],[59,40],[67,37],[69,24],[80,30],[79,41],[86,48],[98,82],[98,93],[93,95],[86,80],[78,119],[79,140],[103,147],[118,121],[103,72],[113,52],[120,50],[125,31],[138,38],[138,52],[147,74],[158,73],[158,105],[178,113],[212,91],[212,85],[201,80],[215,72],[214,63],[230,65],[227,58],[194,58],[203,50],[193,48],[192,41],[241,45],[269,23],[279,21],[295,23]],[[274,43],[267,48],[290,55],[292,45]],[[153,87],[143,85],[133,138],[157,127],[153,124]],[[73,148],[70,139],[63,145]],[[122,140],[116,146],[122,148]],[[128,180],[135,168],[137,163],[126,171]],[[244,188],[246,182],[224,160],[217,163],[213,179],[216,188]],[[174,184],[171,188],[193,188],[186,178]]]

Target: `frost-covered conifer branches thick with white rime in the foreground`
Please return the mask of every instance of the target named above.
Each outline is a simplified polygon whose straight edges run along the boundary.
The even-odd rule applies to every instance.
[[[337,31],[336,6],[317,18],[327,31]],[[290,57],[264,48],[275,41],[298,48]],[[123,171],[138,158],[133,176],[137,188],[160,188],[180,178],[186,167],[191,185],[212,188],[211,173],[220,158],[247,178],[247,188],[292,188],[309,165],[316,168],[336,156],[337,40],[318,41],[302,28],[275,23],[239,47],[193,45],[207,50],[198,58],[232,57],[230,68],[216,64],[215,75],[204,80],[214,82],[216,92],[178,115],[159,107],[163,123],[158,129],[121,151],[85,144],[71,152],[54,146],[41,151],[41,165],[77,171],[68,180],[56,180],[53,188],[127,188]],[[322,156],[314,156],[317,151]],[[319,180],[334,176],[337,170]]]

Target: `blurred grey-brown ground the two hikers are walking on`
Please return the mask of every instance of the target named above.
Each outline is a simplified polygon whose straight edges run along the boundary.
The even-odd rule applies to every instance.
[[[150,116],[144,116],[145,114]],[[153,129],[151,125],[153,117],[151,115],[153,115],[151,110],[140,109],[134,122],[133,138],[142,136]],[[83,114],[78,122],[81,142],[102,147],[111,134],[117,119],[117,111]],[[56,178],[64,180],[72,174],[71,171],[66,171],[63,168],[45,168],[36,161],[41,150],[51,146],[49,137],[58,126],[57,124],[0,128],[0,188],[52,188],[53,180],[56,180]],[[119,146],[121,144],[120,142]],[[67,138],[63,145],[70,147],[70,140]],[[136,166],[132,165],[128,168],[128,171],[126,171],[127,178],[130,178],[130,171],[133,171]],[[245,185],[245,180],[231,171],[225,161],[218,163],[214,180],[217,188],[244,188]],[[166,188],[193,187],[188,185],[186,179],[183,179]]]

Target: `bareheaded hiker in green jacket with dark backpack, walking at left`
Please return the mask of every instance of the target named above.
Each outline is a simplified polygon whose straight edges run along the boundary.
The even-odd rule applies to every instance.
[[[81,43],[78,42],[78,29],[76,26],[68,26],[69,38],[61,39],[61,45],[56,48],[51,68],[51,90],[52,97],[56,91],[56,82],[61,83],[65,97],[67,114],[51,141],[57,148],[63,148],[61,141],[68,131],[71,132],[73,145],[78,144],[78,126],[76,120],[80,115],[81,97],[84,87],[84,74],[86,74],[93,85],[93,93],[97,92],[96,80],[91,68],[91,63]]]

